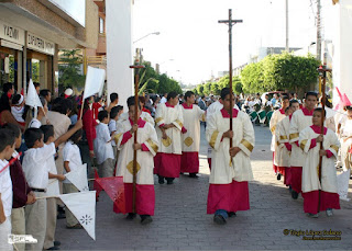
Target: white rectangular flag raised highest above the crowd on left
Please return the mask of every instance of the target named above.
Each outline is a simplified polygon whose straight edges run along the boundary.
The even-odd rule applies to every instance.
[[[84,100],[88,96],[99,93],[102,94],[103,83],[106,80],[106,70],[88,66]]]

